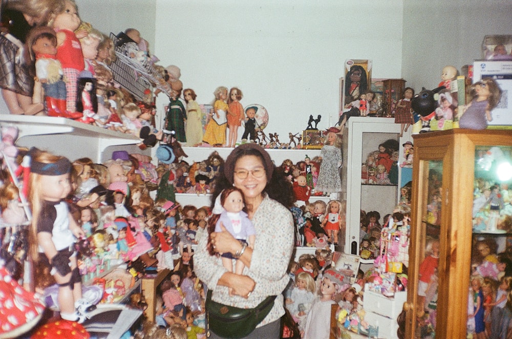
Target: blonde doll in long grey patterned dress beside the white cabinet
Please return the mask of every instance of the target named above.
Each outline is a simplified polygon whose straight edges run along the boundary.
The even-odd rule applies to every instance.
[[[342,140],[338,137],[339,129],[331,127],[327,130],[325,144],[318,157],[320,169],[315,191],[330,193],[342,190],[342,179],[339,175],[339,168],[342,166]]]

